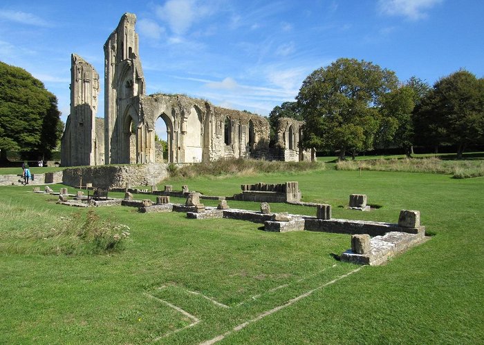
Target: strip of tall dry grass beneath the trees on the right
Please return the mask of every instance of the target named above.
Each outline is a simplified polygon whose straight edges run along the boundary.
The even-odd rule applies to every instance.
[[[377,170],[402,172],[431,172],[450,174],[455,179],[484,176],[484,161],[441,160],[437,157],[417,159],[373,159],[365,161],[338,161],[337,170]]]

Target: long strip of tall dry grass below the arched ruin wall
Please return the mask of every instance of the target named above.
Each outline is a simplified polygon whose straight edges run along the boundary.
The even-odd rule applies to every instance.
[[[322,163],[310,161],[265,161],[261,159],[220,159],[204,163],[169,169],[170,177],[197,176],[239,176],[248,177],[261,173],[272,172],[301,172],[308,170],[324,170]]]

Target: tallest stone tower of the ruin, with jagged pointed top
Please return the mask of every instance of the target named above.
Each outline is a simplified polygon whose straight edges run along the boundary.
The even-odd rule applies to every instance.
[[[105,164],[145,163],[137,139],[142,126],[138,96],[145,94],[145,77],[135,24],[135,14],[123,14],[104,43]]]

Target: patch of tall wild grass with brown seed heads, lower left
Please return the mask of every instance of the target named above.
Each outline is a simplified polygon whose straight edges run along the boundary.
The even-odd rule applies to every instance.
[[[0,201],[0,253],[90,255],[124,248],[129,227],[103,220],[93,209],[86,215],[59,217],[50,210]]]

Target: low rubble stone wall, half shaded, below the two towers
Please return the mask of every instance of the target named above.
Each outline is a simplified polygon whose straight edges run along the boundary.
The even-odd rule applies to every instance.
[[[167,164],[131,164],[125,166],[84,166],[64,170],[63,183],[68,186],[93,184],[94,187],[124,188],[152,186],[168,177]]]

